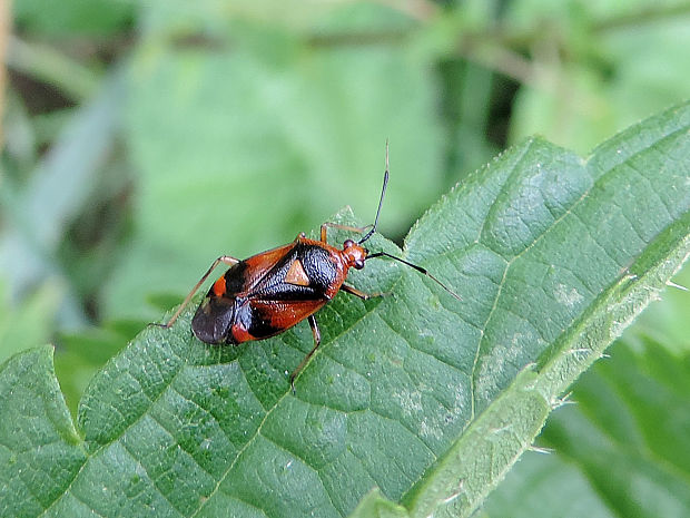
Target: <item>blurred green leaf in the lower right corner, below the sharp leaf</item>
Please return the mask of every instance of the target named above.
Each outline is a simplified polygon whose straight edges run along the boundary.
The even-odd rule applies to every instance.
[[[550,418],[540,443],[558,455],[526,456],[484,516],[546,517],[553,508],[573,518],[687,516],[690,349],[683,346],[670,351],[631,329],[611,359],[578,382],[570,397],[576,404]]]

